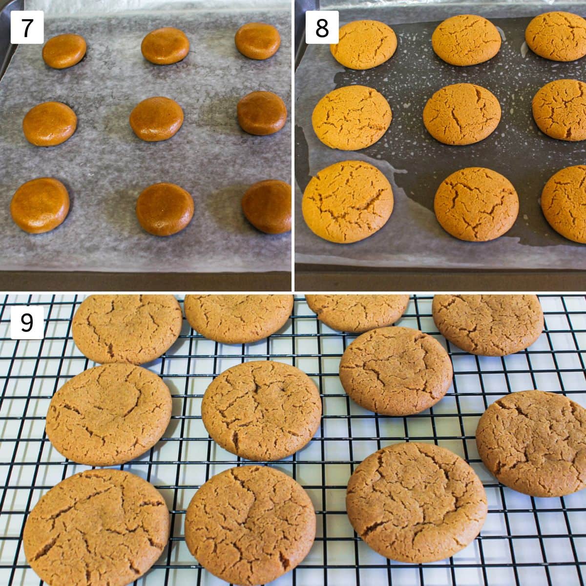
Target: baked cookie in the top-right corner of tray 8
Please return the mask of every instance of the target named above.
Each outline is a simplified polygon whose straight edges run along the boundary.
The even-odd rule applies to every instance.
[[[552,61],[574,61],[586,55],[586,21],[571,12],[546,12],[527,25],[529,49]]]

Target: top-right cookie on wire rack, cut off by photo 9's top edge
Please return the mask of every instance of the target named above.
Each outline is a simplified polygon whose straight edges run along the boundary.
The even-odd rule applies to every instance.
[[[479,356],[507,356],[543,332],[537,295],[435,295],[435,325],[444,338]]]

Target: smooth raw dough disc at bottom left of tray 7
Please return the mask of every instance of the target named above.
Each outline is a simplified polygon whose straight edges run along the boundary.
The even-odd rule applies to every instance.
[[[23,183],[12,196],[10,214],[16,226],[30,234],[49,232],[64,222],[69,213],[69,193],[52,177]]]

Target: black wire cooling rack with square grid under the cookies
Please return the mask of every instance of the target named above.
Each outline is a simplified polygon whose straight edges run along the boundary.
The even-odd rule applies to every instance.
[[[171,425],[155,448],[120,466],[154,483],[172,513],[169,546],[138,583],[224,584],[196,563],[183,540],[185,509],[197,488],[241,462],[210,440],[200,402],[207,385],[223,370],[245,360],[270,358],[308,373],[323,398],[322,424],[314,440],[291,458],[271,464],[305,487],[318,518],[308,557],[275,584],[584,584],[586,490],[536,499],[504,488],[483,467],[474,441],[486,406],[511,391],[554,391],[586,406],[586,299],[540,299],[546,330],[530,349],[489,358],[448,344],[454,364],[452,388],[430,411],[406,418],[374,415],[349,400],[340,386],[338,363],[355,336],[319,323],[302,297],[295,299],[294,315],[280,332],[246,346],[206,340],[184,321],[178,342],[148,365],[171,388]],[[6,297],[0,306],[0,584],[40,583],[22,550],[26,515],[53,485],[87,468],[65,460],[45,436],[45,414],[54,391],[93,366],[71,339],[71,317],[80,301],[74,296],[21,295]],[[9,315],[15,304],[45,305],[45,339],[9,339]],[[431,297],[411,298],[399,323],[446,343],[431,318]],[[481,536],[448,560],[425,565],[386,560],[356,537],[347,520],[345,489],[353,469],[376,449],[406,440],[451,449],[471,463],[486,488],[489,514]]]

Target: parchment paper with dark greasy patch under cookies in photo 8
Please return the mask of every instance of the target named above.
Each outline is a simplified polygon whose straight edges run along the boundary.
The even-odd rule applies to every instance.
[[[371,267],[433,268],[586,268],[586,246],[559,236],[541,213],[539,197],[558,169],[586,162],[584,142],[556,141],[533,121],[536,91],[554,79],[586,80],[586,59],[556,63],[534,55],[524,44],[532,16],[550,10],[584,14],[586,4],[554,2],[322,2],[340,10],[340,26],[375,19],[393,26],[398,47],[383,65],[366,71],[345,69],[327,45],[310,45],[295,73],[296,255],[298,263]],[[360,5],[360,8],[356,6]],[[363,8],[364,6],[368,8]],[[431,48],[431,33],[444,18],[458,13],[486,16],[503,37],[489,62],[454,67]],[[502,18],[509,16],[510,18]],[[515,18],[513,18],[515,17]],[[423,125],[431,95],[451,83],[488,88],[499,99],[502,119],[484,141],[449,147],[435,141]],[[387,98],[393,121],[383,138],[362,151],[338,151],[323,145],[311,127],[319,99],[334,88],[362,84]],[[374,236],[336,245],[315,236],[302,219],[301,194],[311,175],[332,163],[359,159],[376,165],[393,186],[395,207],[389,222]],[[519,194],[520,210],[506,236],[488,243],[467,243],[447,234],[433,212],[438,185],[466,166],[485,166],[505,175]]]

